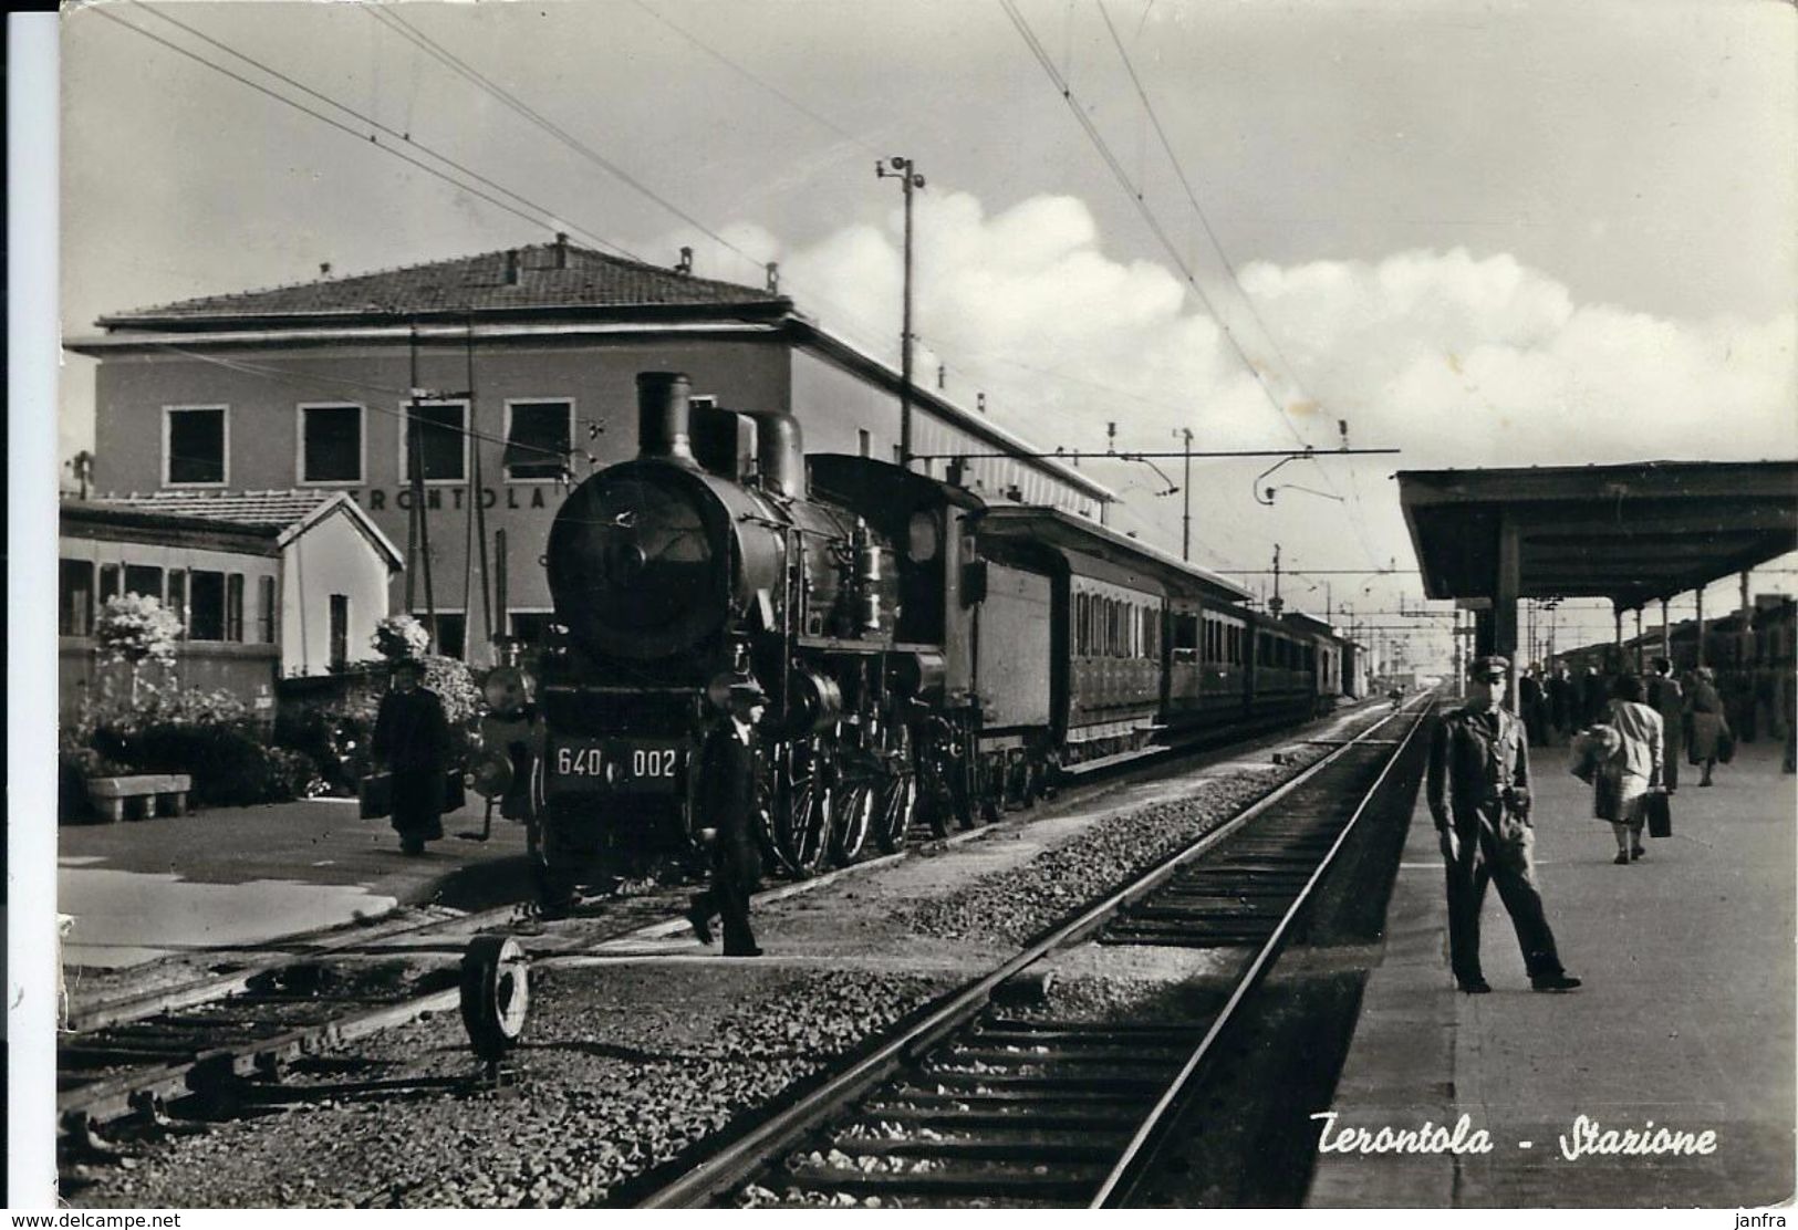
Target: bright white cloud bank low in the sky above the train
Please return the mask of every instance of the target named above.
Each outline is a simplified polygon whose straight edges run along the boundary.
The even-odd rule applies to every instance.
[[[1275,541],[1311,566],[1408,565],[1393,469],[1798,455],[1791,313],[1660,318],[1577,302],[1512,254],[1420,248],[1244,263],[1241,290],[1205,282],[1219,324],[1169,266],[1109,255],[1077,198],[994,214],[931,187],[915,210],[921,381],[946,363],[948,396],[985,392],[1043,448],[1100,451],[1117,423],[1118,450],[1174,450],[1181,428],[1197,450],[1331,450],[1340,421],[1356,446],[1402,448],[1286,466],[1266,480],[1293,484],[1271,509],[1250,498],[1271,459],[1196,466],[1194,557],[1217,566],[1266,566]],[[793,250],[759,227],[728,234],[780,261],[800,311],[897,365],[897,205]],[[1179,480],[1178,460],[1163,469]],[[1183,500],[1158,496],[1165,482],[1140,464],[1090,473],[1124,495],[1113,525],[1179,548]]]

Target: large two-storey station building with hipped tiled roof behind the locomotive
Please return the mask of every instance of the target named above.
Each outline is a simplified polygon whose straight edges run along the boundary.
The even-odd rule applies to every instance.
[[[102,334],[68,343],[99,360],[97,491],[345,493],[406,543],[392,606],[432,606],[451,655],[489,633],[541,633],[550,521],[574,484],[635,457],[638,372],[689,374],[698,405],[791,414],[806,451],[899,453],[899,372],[797,313],[773,272],[766,288],[739,286],[566,237],[97,324]],[[984,414],[913,388],[912,451],[964,450],[1009,453],[931,468],[989,502],[1102,520],[1113,498],[1027,457]],[[480,577],[494,579],[485,592]],[[489,604],[507,622],[484,631]]]

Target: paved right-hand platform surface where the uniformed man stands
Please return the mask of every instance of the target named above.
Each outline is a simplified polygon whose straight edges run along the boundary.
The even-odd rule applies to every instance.
[[[1794,1187],[1794,879],[1798,777],[1782,748],[1742,744],[1715,786],[1679,766],[1674,836],[1615,865],[1611,827],[1532,748],[1537,872],[1571,993],[1532,993],[1510,919],[1487,892],[1492,994],[1462,994],[1447,960],[1442,856],[1422,791],[1331,1111],[1354,1129],[1424,1124],[1491,1151],[1322,1151],[1314,1208],[1755,1208]],[[1579,1120],[1715,1133],[1708,1154],[1579,1149]],[[1568,1158],[1562,1138],[1577,1156]],[[1365,1138],[1361,1138],[1365,1140]],[[1598,1136],[1600,1144],[1604,1136]],[[1392,1144],[1388,1140],[1388,1144]]]

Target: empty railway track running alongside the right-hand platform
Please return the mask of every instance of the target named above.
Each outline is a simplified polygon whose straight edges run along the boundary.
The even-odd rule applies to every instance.
[[[1302,930],[1338,851],[1426,712],[1392,714],[1343,741],[732,1144],[662,1167],[660,1185],[633,1201],[1126,1203],[1217,1039]],[[1034,966],[1082,942],[1219,949],[1230,973],[1215,1011],[1197,1021],[1057,1020],[996,1003]]]

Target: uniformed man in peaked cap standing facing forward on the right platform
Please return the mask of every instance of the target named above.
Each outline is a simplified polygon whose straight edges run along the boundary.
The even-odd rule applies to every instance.
[[[1555,937],[1543,915],[1530,849],[1530,748],[1523,723],[1500,700],[1510,664],[1474,658],[1467,703],[1444,716],[1429,743],[1429,815],[1447,863],[1449,949],[1455,982],[1483,994],[1480,910],[1487,881],[1510,914],[1535,991],[1571,991],[1580,984],[1561,967]]]

